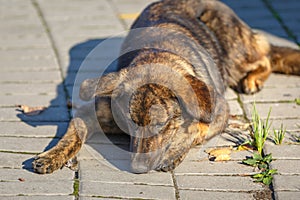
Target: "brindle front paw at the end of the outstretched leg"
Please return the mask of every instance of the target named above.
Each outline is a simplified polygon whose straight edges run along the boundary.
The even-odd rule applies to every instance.
[[[49,156],[45,153],[37,155],[32,162],[34,172],[39,174],[49,174],[53,171],[60,169],[64,163],[60,159]]]

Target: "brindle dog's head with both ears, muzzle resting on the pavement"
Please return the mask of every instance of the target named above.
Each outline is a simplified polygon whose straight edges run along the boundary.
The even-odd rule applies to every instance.
[[[134,65],[81,85],[84,100],[111,98],[114,120],[131,136],[136,173],[157,169],[169,153],[182,154],[172,145],[180,143],[174,139],[178,134],[189,134],[187,121],[211,121],[212,91],[203,81],[174,69],[158,63]]]

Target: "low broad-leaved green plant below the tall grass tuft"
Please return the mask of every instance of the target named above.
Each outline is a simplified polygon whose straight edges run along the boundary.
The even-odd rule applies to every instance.
[[[272,162],[272,154],[262,156],[254,153],[252,157],[244,159],[242,162],[252,167],[257,167],[261,172],[254,174],[252,178],[255,182],[262,182],[265,185],[270,185],[273,180],[273,175],[277,173],[277,169],[270,169],[269,164]]]

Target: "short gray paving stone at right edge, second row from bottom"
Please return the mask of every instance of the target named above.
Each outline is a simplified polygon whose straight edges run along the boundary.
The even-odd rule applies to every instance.
[[[279,191],[300,192],[299,184],[300,184],[299,176],[274,175],[273,187],[276,192]]]

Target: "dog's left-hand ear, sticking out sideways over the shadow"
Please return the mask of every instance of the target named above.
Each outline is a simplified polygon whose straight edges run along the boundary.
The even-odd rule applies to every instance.
[[[118,72],[112,72],[100,78],[87,79],[80,86],[79,96],[84,101],[89,101],[95,96],[111,96],[119,81]]]

